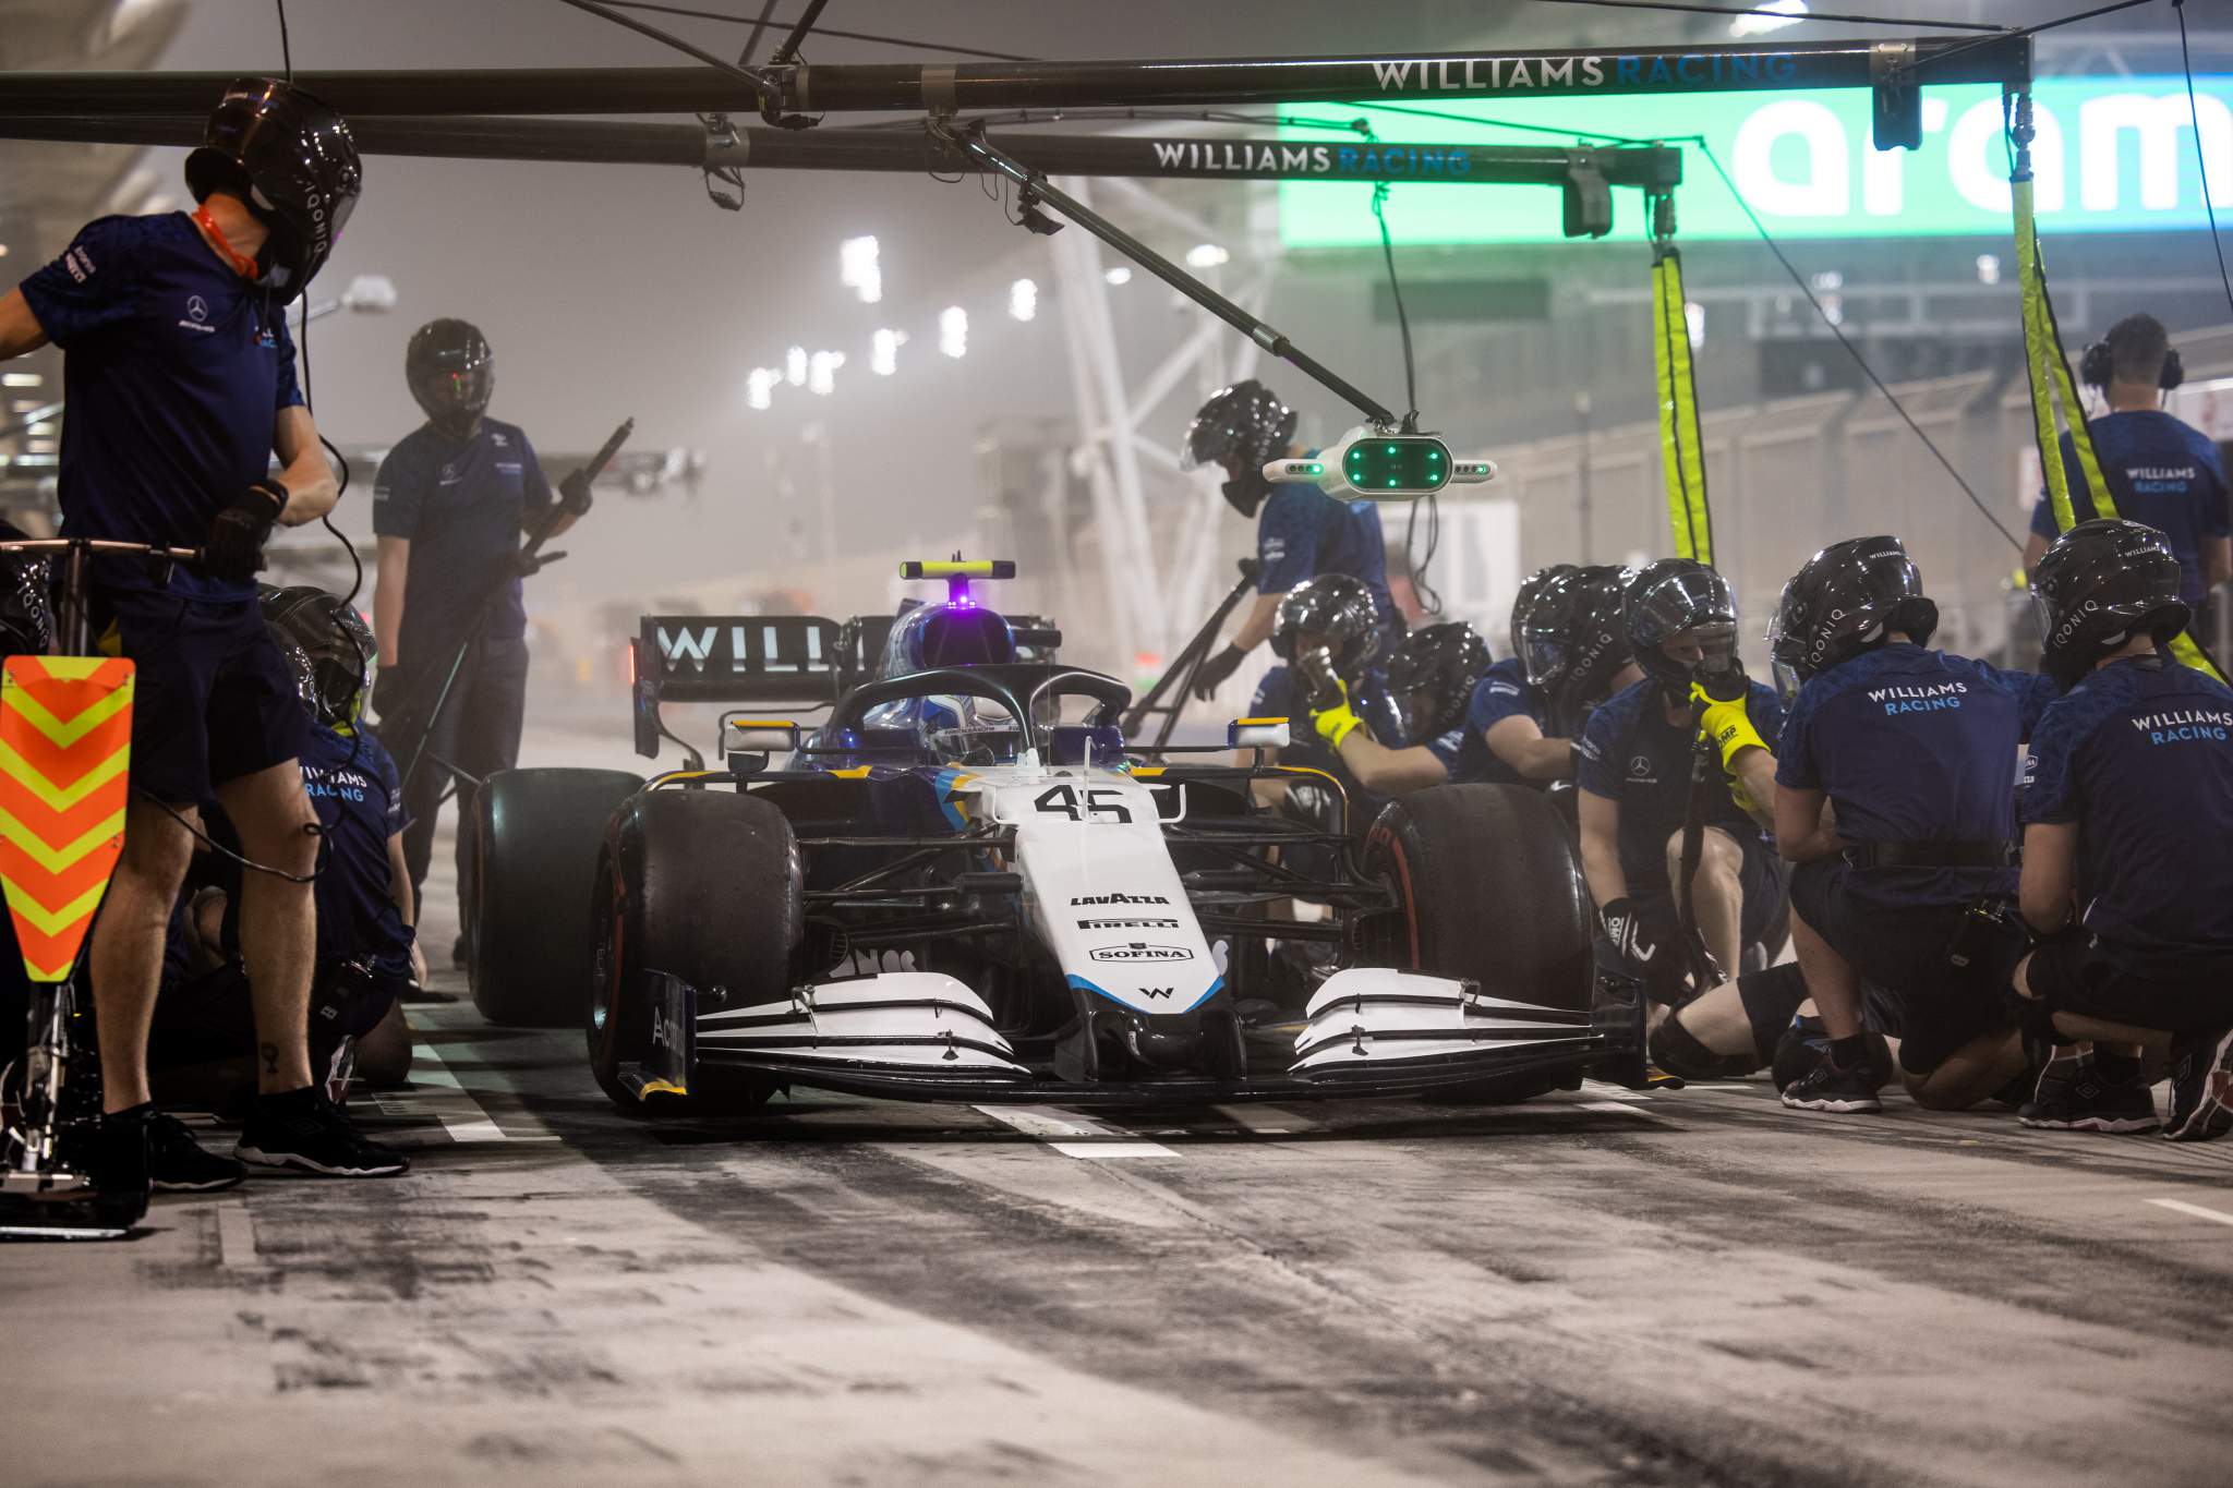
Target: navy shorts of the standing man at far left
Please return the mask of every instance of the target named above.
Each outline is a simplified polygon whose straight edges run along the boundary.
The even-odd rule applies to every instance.
[[[103,654],[138,663],[134,788],[185,808],[214,785],[301,756],[310,716],[252,600],[96,589],[92,618]]]

